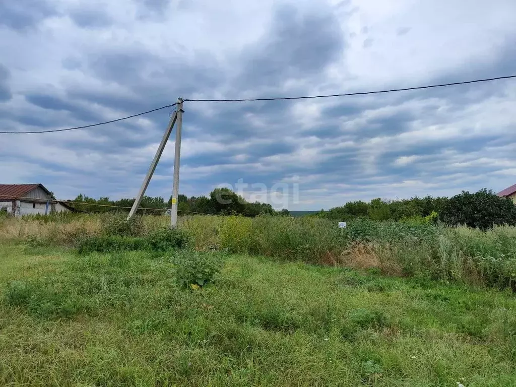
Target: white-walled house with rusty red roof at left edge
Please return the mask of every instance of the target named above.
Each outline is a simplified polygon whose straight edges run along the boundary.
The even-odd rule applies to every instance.
[[[43,184],[0,184],[0,211],[10,215],[47,215],[73,210],[56,200]]]

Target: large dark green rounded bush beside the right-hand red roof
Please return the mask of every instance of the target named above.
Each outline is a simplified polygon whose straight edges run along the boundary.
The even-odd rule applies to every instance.
[[[488,230],[495,224],[516,224],[516,206],[508,198],[498,198],[486,188],[476,193],[462,191],[450,198],[440,213],[440,219],[449,225]]]

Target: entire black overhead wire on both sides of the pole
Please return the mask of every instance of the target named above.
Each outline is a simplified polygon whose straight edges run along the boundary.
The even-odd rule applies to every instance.
[[[432,89],[432,88],[438,88],[438,87],[446,87],[446,86],[457,86],[457,85],[467,85],[467,84],[475,84],[475,83],[481,83],[481,82],[491,82],[493,80],[499,80],[499,79],[509,79],[509,78],[516,78],[515,75],[506,75],[506,76],[498,76],[494,78],[483,78],[483,79],[474,79],[474,80],[464,80],[462,82],[451,82],[451,83],[444,83],[444,84],[438,84],[438,85],[427,85],[427,86],[415,86],[415,87],[406,87],[406,88],[398,88],[398,89],[388,89],[388,90],[375,90],[375,91],[359,91],[359,92],[352,92],[352,93],[341,93],[341,94],[321,94],[321,95],[307,95],[307,96],[290,96],[290,97],[272,97],[272,98],[246,98],[246,99],[184,99],[184,102],[252,102],[252,101],[287,101],[287,100],[309,100],[309,99],[317,99],[317,98],[332,98],[332,97],[339,97],[339,96],[352,96],[352,95],[368,95],[368,94],[382,94],[382,93],[392,93],[395,91],[410,91],[410,90],[423,90],[423,89]],[[31,132],[0,132],[0,134],[36,134],[36,133],[53,133],[53,132],[66,132],[66,131],[73,131],[76,129],[85,129],[93,126],[100,126],[105,124],[110,124],[113,122],[123,121],[130,118],[143,116],[145,114],[152,113],[154,111],[166,109],[168,107],[175,106],[176,103],[158,107],[156,109],[143,111],[141,113],[127,116],[123,118],[119,118],[116,120],[111,121],[105,121],[105,122],[99,122],[96,124],[91,125],[85,125],[85,126],[76,126],[76,127],[70,127],[66,129],[54,129],[54,130],[48,130],[48,131],[31,131]]]

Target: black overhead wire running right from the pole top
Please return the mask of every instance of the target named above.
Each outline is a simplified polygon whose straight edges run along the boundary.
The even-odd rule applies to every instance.
[[[406,87],[403,89],[361,91],[361,92],[344,93],[344,94],[322,94],[322,95],[278,97],[278,98],[250,98],[250,99],[230,99],[230,100],[223,100],[223,99],[221,99],[221,100],[184,100],[184,101],[185,102],[247,102],[247,101],[310,100],[310,99],[316,99],[316,98],[330,98],[330,97],[337,97],[337,96],[367,95],[367,94],[392,93],[394,91],[422,90],[422,89],[431,89],[431,88],[436,88],[436,87],[466,85],[466,84],[480,83],[480,82],[490,82],[491,80],[509,79],[509,78],[516,78],[516,75],[498,76],[496,78],[465,80],[463,82],[444,83],[444,84],[439,84],[439,85]]]

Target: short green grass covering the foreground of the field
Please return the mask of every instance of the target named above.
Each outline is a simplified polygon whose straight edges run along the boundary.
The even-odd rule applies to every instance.
[[[0,385],[516,385],[509,293],[234,255],[0,245]],[[463,378],[463,379],[461,379]]]

